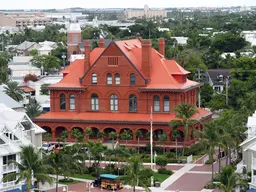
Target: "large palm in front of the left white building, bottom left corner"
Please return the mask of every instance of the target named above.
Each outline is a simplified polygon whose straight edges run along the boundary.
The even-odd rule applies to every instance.
[[[18,177],[15,183],[25,181],[28,192],[30,192],[33,177],[43,184],[46,182],[52,184],[53,178],[48,175],[52,167],[44,164],[40,158],[41,153],[41,150],[36,150],[32,145],[21,147],[20,161],[9,161],[9,163],[17,166],[19,171],[6,175],[3,181],[6,182]]]

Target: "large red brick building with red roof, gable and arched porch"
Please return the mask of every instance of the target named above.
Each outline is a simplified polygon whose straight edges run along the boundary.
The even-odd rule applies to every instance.
[[[100,39],[99,47],[92,51],[90,41],[84,41],[85,58],[71,63],[63,71],[63,79],[49,87],[51,111],[37,117],[36,123],[52,133],[53,139],[67,129],[69,141],[73,129],[84,132],[90,127],[91,139],[104,131],[104,141],[109,132],[130,130],[133,138],[129,143],[135,145],[135,132],[141,130],[141,144],[146,145],[152,106],[155,143],[159,134],[166,133],[166,145],[173,147],[168,125],[175,119],[173,108],[179,103],[196,105],[199,84],[189,80],[189,72],[174,60],[165,59],[164,50],[164,39],[159,40],[159,51],[152,48],[151,40],[112,41],[105,48]],[[193,118],[204,121],[211,117],[204,109],[199,112]],[[183,144],[183,129],[179,131],[183,136],[179,144]],[[191,136],[186,144],[193,141]]]

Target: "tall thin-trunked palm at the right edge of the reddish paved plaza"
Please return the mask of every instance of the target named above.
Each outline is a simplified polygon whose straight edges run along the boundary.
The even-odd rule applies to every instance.
[[[215,152],[214,151],[215,146],[218,145],[218,141],[219,141],[219,134],[216,130],[216,123],[214,121],[209,121],[207,124],[205,124],[203,131],[199,132],[198,135],[200,138],[200,142],[202,142],[202,144],[208,148],[209,160],[212,165],[212,182],[213,182],[213,177],[214,177],[213,155]]]

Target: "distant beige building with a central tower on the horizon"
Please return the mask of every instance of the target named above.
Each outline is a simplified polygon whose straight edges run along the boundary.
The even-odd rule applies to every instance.
[[[150,10],[148,5],[144,6],[143,10],[125,10],[124,15],[126,19],[131,18],[154,18],[154,17],[167,17],[166,10]]]

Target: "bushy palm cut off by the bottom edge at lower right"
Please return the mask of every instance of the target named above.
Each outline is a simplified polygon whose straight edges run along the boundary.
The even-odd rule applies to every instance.
[[[223,192],[234,192],[237,186],[246,188],[247,181],[243,178],[242,174],[236,173],[232,166],[226,166],[216,177],[216,187]]]

